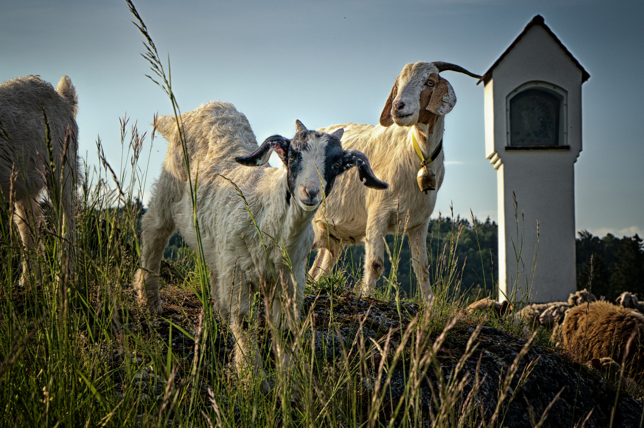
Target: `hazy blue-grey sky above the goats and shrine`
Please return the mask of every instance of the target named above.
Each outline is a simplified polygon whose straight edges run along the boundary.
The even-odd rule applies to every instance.
[[[182,111],[232,102],[258,140],[344,122],[376,124],[407,62],[442,60],[482,74],[536,14],[591,74],[583,85],[583,151],[575,165],[576,226],[644,232],[644,2],[641,1],[135,1],[169,55]],[[144,75],[142,36],[124,1],[0,0],[0,81],[71,77],[80,151],[95,141],[120,162],[118,118],[151,130],[171,111]],[[458,102],[446,116],[439,210],[497,218],[496,171],[484,155],[483,88],[444,72]],[[149,139],[147,140],[149,144]],[[148,185],[166,143],[155,140]],[[520,203],[520,201],[519,201]]]

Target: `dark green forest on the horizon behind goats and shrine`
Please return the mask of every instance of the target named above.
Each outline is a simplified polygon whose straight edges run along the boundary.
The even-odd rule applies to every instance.
[[[458,281],[453,292],[466,295],[469,299],[495,295],[495,284],[498,279],[498,226],[489,218],[486,221],[473,221],[460,218],[431,219],[427,234],[427,247],[430,250],[430,275],[436,271],[442,254],[450,254],[449,239],[457,239],[452,257],[456,257]],[[386,237],[389,254],[399,254],[397,282],[403,294],[413,294],[416,278],[413,274],[410,259],[410,246],[405,235],[403,241],[393,235]],[[448,245],[448,247],[446,247]],[[177,260],[185,254],[180,235],[171,237],[164,256]],[[361,261],[365,254],[364,246],[346,247],[341,256],[338,268],[346,271],[348,284],[355,284],[361,271]],[[620,293],[629,291],[644,298],[644,245],[637,234],[632,237],[616,237],[607,234],[605,237],[592,235],[590,232],[579,232],[576,239],[577,254],[577,288],[591,288],[597,296],[614,300]],[[316,251],[311,253],[312,263]],[[592,256],[592,281],[591,275]],[[383,277],[388,277],[391,269],[390,258],[385,255]],[[538,261],[537,261],[538,264]],[[433,282],[433,281],[432,281]],[[381,286],[384,279],[379,281]]]

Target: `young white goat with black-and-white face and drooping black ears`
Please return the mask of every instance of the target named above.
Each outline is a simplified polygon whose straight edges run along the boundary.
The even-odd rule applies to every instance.
[[[230,319],[236,341],[234,362],[241,368],[250,364],[243,333],[248,324],[243,321],[254,293],[274,297],[267,314],[276,326],[283,311],[291,329],[299,319],[306,260],[314,238],[311,220],[322,192],[328,195],[336,176],[354,166],[365,179],[364,185],[386,189],[387,183],[375,178],[365,154],[343,150],[342,129],[328,135],[308,131],[297,121],[292,140],[274,135],[258,147],[246,116],[224,102],[209,102],[184,113],[182,123],[193,183],[198,176],[196,217],[210,268],[211,294],[222,319]],[[179,228],[190,247],[198,248],[198,240],[175,118],[161,116],[156,129],[169,145],[149,209],[141,220],[142,268],[135,284],[140,302],[160,313],[157,275],[169,237]],[[273,151],[284,166],[260,166]],[[261,359],[259,353],[255,355],[257,376]],[[285,355],[287,363],[288,358]],[[265,380],[263,389],[268,389]]]

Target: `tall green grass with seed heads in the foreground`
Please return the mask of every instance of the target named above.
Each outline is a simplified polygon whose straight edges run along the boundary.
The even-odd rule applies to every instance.
[[[178,116],[171,79],[166,77],[140,15],[129,5],[146,37],[144,56]],[[162,288],[166,303],[161,317],[138,308],[131,281],[140,259],[140,201],[154,134],[148,140],[136,123],[128,125],[127,118],[120,120],[118,169],[108,162],[100,141],[100,164],[85,166],[75,204],[73,251],[67,250],[61,221],[56,220],[62,218],[60,204],[50,204],[53,221],[37,234],[41,246],[36,250],[23,248],[10,221],[10,205],[0,204],[2,426],[503,426],[507,402],[513,399],[510,386],[520,389],[534,367],[530,363],[518,372],[533,339],[499,380],[497,407],[488,418],[478,404],[483,381],[478,369],[463,371],[466,361],[475,358],[480,326],[454,368],[444,373],[439,349],[458,326],[462,308],[459,295],[453,292],[458,289],[461,266],[454,256],[457,228],[442,252],[430,255],[437,296],[431,310],[423,308],[418,297],[401,298],[395,266],[403,241],[396,235],[387,248],[392,269],[377,297],[396,302],[400,328],[377,340],[358,333],[345,335],[350,342],[344,342],[333,310],[322,324],[314,319],[311,308],[318,304],[323,288],[331,290],[330,306],[340,295],[356,299],[346,283],[346,272],[337,270],[321,283],[307,284],[307,292],[318,297],[312,299],[298,330],[290,333],[297,353],[292,366],[283,367],[279,355],[287,351],[287,342],[269,319],[259,316],[266,306],[260,295],[252,296],[253,315],[248,321],[267,362],[265,369],[273,386],[267,396],[261,393],[262,378],[242,376],[246,379],[242,382],[230,368],[232,335],[212,310],[202,248],[186,250],[180,263],[187,274]],[[147,159],[142,158],[146,151]],[[190,183],[193,191],[197,185],[197,180]],[[406,219],[401,219],[399,227],[404,232]],[[33,261],[33,272],[39,273],[19,286],[21,260],[26,256]],[[68,270],[68,263],[73,263],[73,270]],[[419,308],[405,322],[403,303]],[[367,320],[365,314],[359,315],[350,326],[355,331],[362,331]],[[333,345],[336,341],[339,351]],[[401,368],[404,382],[397,387],[404,393],[396,401],[391,387]],[[430,384],[431,405],[424,406],[421,386],[428,374],[437,383]],[[297,398],[292,391],[297,391]],[[543,423],[538,418],[546,414],[547,409],[544,415],[535,416],[534,425]]]

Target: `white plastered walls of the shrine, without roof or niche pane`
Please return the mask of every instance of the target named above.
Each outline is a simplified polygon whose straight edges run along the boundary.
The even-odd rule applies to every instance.
[[[567,140],[559,144],[570,145],[569,151],[506,151],[507,95],[531,81],[567,91]],[[581,86],[582,71],[540,25],[507,53],[485,86],[486,156],[498,174],[501,300],[504,294],[511,296],[514,284],[518,287],[512,300],[532,288],[535,302],[565,300],[576,288],[574,162],[582,150]]]

